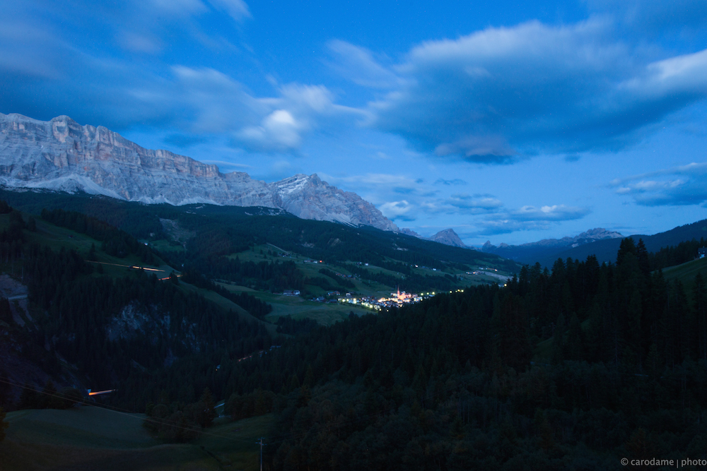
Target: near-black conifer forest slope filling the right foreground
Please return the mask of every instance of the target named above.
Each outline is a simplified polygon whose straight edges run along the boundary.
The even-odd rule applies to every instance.
[[[646,255],[626,239],[616,265],[557,261],[504,288],[352,317],[233,364],[232,383],[224,373],[214,388],[226,384],[238,404],[258,388],[272,391],[258,393],[262,404],[285,395],[272,406],[274,469],[605,470],[625,455],[704,458],[705,282],[686,292],[650,273]]]

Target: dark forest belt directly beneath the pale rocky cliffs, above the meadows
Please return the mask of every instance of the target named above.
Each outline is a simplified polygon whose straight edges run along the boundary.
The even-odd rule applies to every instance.
[[[510,271],[517,268],[515,263],[492,254],[437,244],[373,227],[348,227],[286,214],[271,216],[270,208],[205,204],[177,207],[144,205],[83,193],[18,193],[4,189],[0,189],[0,198],[29,213],[40,214],[43,208],[77,211],[123,229],[139,239],[168,238],[160,220],[176,221],[183,229],[194,231],[190,256],[209,258],[232,254],[253,244],[269,242],[317,260],[377,264],[386,258],[393,258],[403,263],[438,269],[449,263],[469,266],[486,264]]]

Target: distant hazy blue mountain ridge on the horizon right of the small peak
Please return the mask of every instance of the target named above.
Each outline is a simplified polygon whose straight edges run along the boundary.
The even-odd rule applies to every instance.
[[[591,244],[606,239],[622,239],[624,236],[615,231],[608,231],[603,227],[596,227],[582,232],[575,237],[563,237],[562,239],[543,239],[538,242],[529,242],[520,245],[499,244],[495,246],[491,241],[481,246],[481,251],[487,254],[496,254],[503,258],[518,261],[520,263],[535,263],[540,258],[547,258],[553,254],[572,249],[585,244]]]

